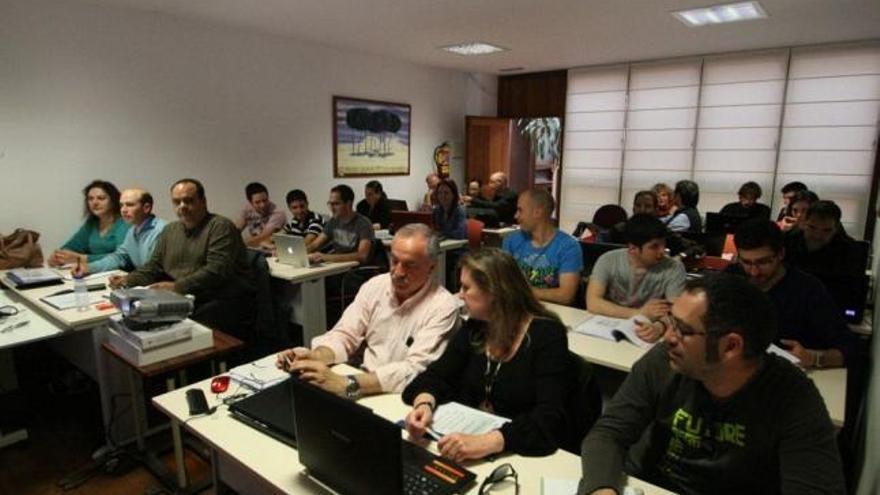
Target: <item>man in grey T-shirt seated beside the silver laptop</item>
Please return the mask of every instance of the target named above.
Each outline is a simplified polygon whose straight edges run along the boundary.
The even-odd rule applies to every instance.
[[[373,225],[370,219],[354,211],[354,191],[342,184],[330,189],[327,204],[333,213],[324,232],[309,246],[312,261],[357,261],[365,264],[372,251]],[[316,252],[329,244],[331,253]]]

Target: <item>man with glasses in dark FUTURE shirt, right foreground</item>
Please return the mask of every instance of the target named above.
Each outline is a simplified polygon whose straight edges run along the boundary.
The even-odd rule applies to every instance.
[[[693,280],[584,439],[578,495],[622,493],[622,474],[676,493],[845,493],[816,386],[765,350],[773,305],[730,275]]]

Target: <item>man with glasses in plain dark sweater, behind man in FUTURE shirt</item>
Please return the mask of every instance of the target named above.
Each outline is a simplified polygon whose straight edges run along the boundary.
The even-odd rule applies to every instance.
[[[782,232],[775,222],[750,220],[734,235],[743,274],[776,306],[778,338],[805,368],[844,366],[855,352],[854,336],[843,313],[817,278],[783,264]]]

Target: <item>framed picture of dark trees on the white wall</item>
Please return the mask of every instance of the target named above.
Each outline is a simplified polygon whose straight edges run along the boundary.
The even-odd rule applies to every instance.
[[[333,176],[409,175],[411,108],[333,97]]]

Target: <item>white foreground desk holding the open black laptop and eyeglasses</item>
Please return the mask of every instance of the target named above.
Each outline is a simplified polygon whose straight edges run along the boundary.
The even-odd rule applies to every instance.
[[[352,369],[347,368],[346,372],[352,372]],[[217,404],[218,401],[210,393],[210,380],[155,397],[153,404],[173,419],[185,421],[189,418],[185,397],[189,388],[202,389],[208,397],[208,404]],[[235,387],[230,390],[234,391]],[[366,397],[360,402],[391,421],[402,419],[409,411],[409,406],[403,404],[397,394]],[[211,446],[215,475],[239,493],[326,493],[301,474],[303,467],[295,449],[232,418],[226,406],[220,406],[211,416],[186,422],[185,427]],[[435,448],[433,444],[431,448]],[[547,457],[505,455],[494,462],[468,464],[468,469],[477,474],[477,483],[468,493],[477,493],[480,482],[505,462],[511,463],[519,474],[520,493],[523,494],[541,493],[542,476],[581,477],[580,457],[562,450]],[[643,488],[646,494],[669,493],[639,480],[630,479],[630,483]],[[505,484],[503,488],[499,484],[492,490],[493,494],[513,492],[512,484]]]

